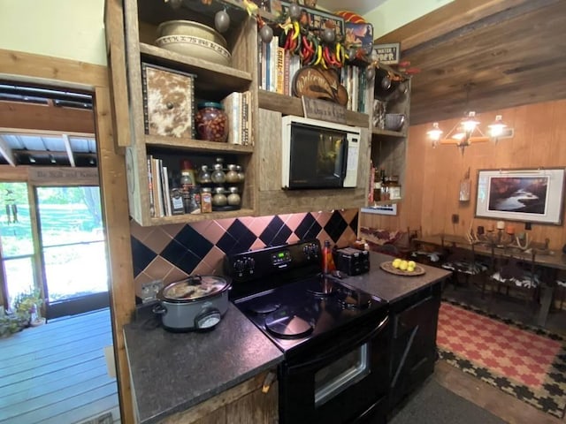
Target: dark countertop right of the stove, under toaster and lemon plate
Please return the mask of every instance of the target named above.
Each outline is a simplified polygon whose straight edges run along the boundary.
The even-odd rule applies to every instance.
[[[421,276],[396,276],[379,268],[380,263],[393,260],[392,256],[370,252],[370,272],[361,276],[345,277],[344,282],[393,303],[419,289],[440,282],[451,274],[446,269],[434,268],[422,263],[418,264],[424,269],[424,274]]]

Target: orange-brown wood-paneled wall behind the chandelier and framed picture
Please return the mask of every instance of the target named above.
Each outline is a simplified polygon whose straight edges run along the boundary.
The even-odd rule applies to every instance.
[[[478,170],[503,168],[566,167],[566,129],[562,125],[566,113],[566,101],[537,103],[509,110],[483,111],[480,117],[485,127],[495,114],[515,129],[515,136],[472,144],[462,155],[454,146],[431,147],[426,131],[431,124],[413,125],[409,129],[408,175],[406,190],[409,198],[399,206],[399,223],[421,223],[424,235],[440,232],[463,235],[473,220],[474,228],[487,226],[495,220],[475,216]],[[455,120],[440,122],[445,132]],[[418,158],[421,164],[412,162]],[[459,202],[459,181],[470,167],[471,199]],[[421,193],[419,201],[411,193]],[[410,206],[409,206],[410,205]],[[459,223],[453,225],[451,216],[459,215]],[[562,208],[562,217],[564,210]],[[562,218],[563,219],[563,218]],[[382,221],[383,222],[383,221]],[[513,223],[516,231],[524,231],[524,223]],[[544,242],[550,239],[553,249],[561,249],[566,242],[565,225],[532,223],[531,239]]]

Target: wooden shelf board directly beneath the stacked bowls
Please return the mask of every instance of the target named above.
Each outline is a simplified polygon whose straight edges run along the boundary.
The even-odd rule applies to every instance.
[[[140,43],[142,60],[151,59],[151,62],[164,66],[173,65],[175,69],[191,72],[196,75],[199,86],[211,86],[218,89],[225,87],[232,91],[248,89],[252,80],[249,72],[243,72],[230,66],[213,64],[203,59],[180,55],[174,51],[160,49],[151,44]],[[145,56],[145,57],[144,57]]]

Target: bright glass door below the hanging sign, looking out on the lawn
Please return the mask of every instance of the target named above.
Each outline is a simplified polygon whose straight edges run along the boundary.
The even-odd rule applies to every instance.
[[[47,318],[109,306],[97,186],[35,187]]]

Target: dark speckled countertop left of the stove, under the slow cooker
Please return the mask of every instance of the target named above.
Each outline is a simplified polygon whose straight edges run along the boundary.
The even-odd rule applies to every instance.
[[[283,354],[232,304],[208,332],[124,327],[132,391],[141,424],[185,411],[267,369]]]

